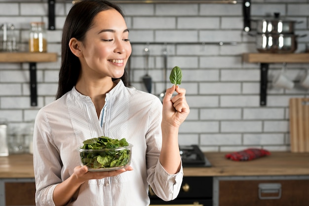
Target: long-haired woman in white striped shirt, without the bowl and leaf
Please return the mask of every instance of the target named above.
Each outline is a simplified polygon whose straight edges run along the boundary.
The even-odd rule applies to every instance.
[[[168,88],[162,106],[154,95],[126,87],[128,34],[120,8],[108,1],[83,0],[70,10],[57,100],[40,109],[35,123],[37,205],[147,206],[148,185],[165,201],[177,197],[185,89]],[[109,172],[79,166],[77,148],[100,136],[133,144],[131,165]]]

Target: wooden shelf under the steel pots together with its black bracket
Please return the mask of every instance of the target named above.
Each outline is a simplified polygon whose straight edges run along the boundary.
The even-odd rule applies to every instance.
[[[270,63],[309,63],[309,53],[245,53],[242,55],[244,62],[260,63],[260,105],[267,104],[268,70]]]

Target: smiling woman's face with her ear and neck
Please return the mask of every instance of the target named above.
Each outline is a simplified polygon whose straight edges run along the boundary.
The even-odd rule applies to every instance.
[[[113,18],[109,18],[113,16]],[[75,85],[81,94],[87,94],[87,86],[100,87],[111,77],[121,78],[131,55],[129,31],[123,16],[116,9],[99,12],[82,40],[73,37],[69,46],[80,61],[80,75]],[[108,92],[113,81],[102,88]],[[84,84],[87,84],[84,85]],[[90,85],[89,85],[90,84]],[[100,104],[103,106],[104,104]],[[102,108],[98,108],[98,116]]]

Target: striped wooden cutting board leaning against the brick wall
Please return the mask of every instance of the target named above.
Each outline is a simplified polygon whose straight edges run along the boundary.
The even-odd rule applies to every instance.
[[[309,98],[291,98],[289,114],[291,152],[309,152]]]

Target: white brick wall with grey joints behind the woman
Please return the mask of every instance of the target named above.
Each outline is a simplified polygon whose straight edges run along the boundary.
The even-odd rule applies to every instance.
[[[55,98],[61,29],[71,6],[68,1],[56,1],[56,30],[47,31],[47,39],[48,51],[57,52],[59,59],[55,63],[37,65],[37,107],[30,106],[29,65],[0,64],[0,118],[7,118],[13,127],[33,121],[39,108]],[[244,63],[241,58],[242,53],[256,52],[255,38],[242,32],[241,0],[237,4],[121,6],[130,29],[133,85],[145,90],[141,76],[145,74],[146,42],[151,43],[149,67],[154,94],[164,89],[162,51],[165,46],[168,69],[177,65],[183,70],[181,86],[187,90],[191,113],[181,126],[180,144],[199,144],[204,151],[235,151],[247,147],[289,150],[288,100],[308,97],[308,90],[299,86],[299,79],[309,65],[288,64],[287,75],[295,81],[296,87],[275,89],[270,83],[268,105],[261,107],[259,65]],[[47,8],[47,0],[0,0],[0,24],[15,24],[20,50],[27,49],[30,22],[47,24]],[[309,34],[308,10],[309,0],[252,0],[251,6],[252,18],[280,12],[289,19],[302,21],[296,25],[297,34]],[[155,42],[167,42],[167,45]],[[220,46],[219,42],[227,44]],[[299,38],[298,42],[297,52],[303,52],[309,35]],[[281,67],[281,64],[270,65],[269,81]]]

